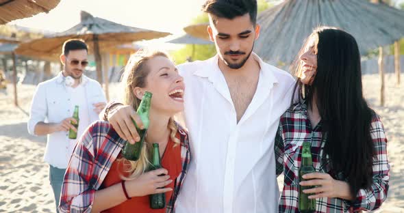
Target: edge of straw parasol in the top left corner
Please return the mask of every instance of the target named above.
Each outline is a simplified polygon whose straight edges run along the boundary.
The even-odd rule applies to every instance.
[[[0,0],[0,25],[12,20],[49,12],[60,0]]]

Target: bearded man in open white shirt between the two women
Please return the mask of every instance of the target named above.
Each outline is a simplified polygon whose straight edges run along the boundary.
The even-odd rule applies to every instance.
[[[191,160],[175,212],[277,212],[274,139],[294,79],[252,52],[256,0],[210,0],[203,11],[217,55],[178,66]],[[138,134],[127,117],[137,117],[134,109],[111,110],[106,117],[133,143]]]

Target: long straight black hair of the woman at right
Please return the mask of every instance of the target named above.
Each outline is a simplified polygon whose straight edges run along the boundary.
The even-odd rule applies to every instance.
[[[355,38],[340,29],[318,27],[309,38],[312,36],[317,44],[314,81],[310,86],[297,81],[295,91],[309,107],[316,102],[323,137],[327,135],[325,155],[331,159],[334,175],[341,173],[356,197],[360,188],[369,188],[373,182],[375,156],[370,137],[374,112],[362,94],[359,48]],[[300,66],[296,60],[292,70],[299,72]]]

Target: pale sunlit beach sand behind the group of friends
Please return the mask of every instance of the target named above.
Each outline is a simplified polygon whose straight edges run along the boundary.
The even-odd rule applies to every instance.
[[[401,79],[396,86],[395,76],[386,74],[386,106],[381,107],[378,74],[363,77],[364,95],[381,115],[389,141],[390,190],[387,201],[375,212],[404,212],[404,74]],[[0,212],[55,212],[49,165],[42,160],[46,137],[27,132],[35,87],[18,85],[19,107],[14,106],[12,85],[7,94],[0,93]],[[116,97],[116,85],[110,91]]]

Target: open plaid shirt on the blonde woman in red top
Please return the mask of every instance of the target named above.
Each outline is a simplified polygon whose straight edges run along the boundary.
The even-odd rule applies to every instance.
[[[175,180],[173,196],[167,203],[166,212],[174,211],[175,200],[190,162],[188,134],[181,126],[178,126],[178,132],[181,136],[182,171]],[[91,212],[94,193],[103,183],[125,143],[108,122],[94,122],[88,127],[77,142],[64,175],[60,212]]]

